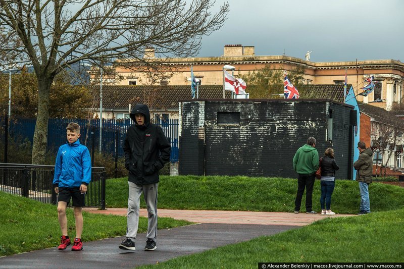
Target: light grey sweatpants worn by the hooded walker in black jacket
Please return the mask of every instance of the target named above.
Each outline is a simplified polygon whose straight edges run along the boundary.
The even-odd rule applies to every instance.
[[[128,198],[128,228],[126,237],[136,240],[137,229],[139,227],[139,208],[140,195],[143,192],[144,200],[147,205],[148,223],[147,223],[147,239],[156,241],[157,236],[157,187],[159,183],[148,185],[137,185],[133,182],[129,183]]]

